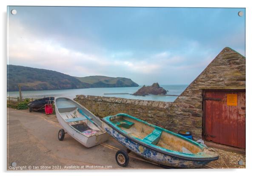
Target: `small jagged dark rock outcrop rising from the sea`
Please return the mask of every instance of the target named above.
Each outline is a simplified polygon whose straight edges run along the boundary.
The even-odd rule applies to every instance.
[[[135,92],[133,95],[140,95],[140,96],[146,96],[149,94],[153,94],[153,95],[165,95],[167,93],[167,91],[160,87],[159,84],[153,83],[150,86],[145,86],[143,85],[142,88],[140,88],[137,92]]]

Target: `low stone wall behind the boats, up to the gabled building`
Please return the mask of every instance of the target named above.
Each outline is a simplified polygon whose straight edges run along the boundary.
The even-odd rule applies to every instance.
[[[156,102],[104,96],[77,95],[74,99],[100,118],[127,113],[157,126],[166,127],[173,113],[172,102]]]

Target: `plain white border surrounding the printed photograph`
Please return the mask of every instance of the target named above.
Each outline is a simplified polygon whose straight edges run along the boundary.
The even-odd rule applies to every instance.
[[[247,112],[247,121],[246,121],[246,151],[247,151],[247,158],[246,158],[246,169],[219,169],[219,170],[161,170],[162,175],[166,174],[186,174],[186,175],[218,175],[219,173],[224,174],[232,174],[232,175],[247,175],[253,173],[255,163],[255,153],[256,153],[256,143],[255,141],[255,46],[256,46],[256,38],[255,38],[255,21],[256,21],[256,9],[253,5],[252,1],[245,1],[245,0],[175,0],[175,1],[165,1],[165,0],[1,0],[0,1],[0,9],[1,9],[1,76],[2,76],[2,84],[1,84],[1,104],[0,104],[0,112],[2,112],[1,119],[1,134],[2,134],[2,145],[1,145],[1,160],[0,166],[1,171],[5,172],[6,170],[6,31],[7,31],[7,16],[6,16],[6,9],[7,5],[46,5],[46,6],[147,6],[147,7],[239,7],[239,8],[246,8],[246,112]],[[84,171],[85,172],[85,171]],[[134,173],[143,174],[157,174],[159,170],[94,170],[87,171],[86,173],[82,173],[80,171],[74,173],[74,171],[55,171],[54,173],[51,172],[44,172],[38,173],[39,175],[47,174],[54,174],[54,175],[84,175],[90,174],[95,175],[97,172],[100,172],[100,175],[131,175]],[[119,173],[122,172],[122,173]],[[5,173],[6,174],[6,173]],[[11,175],[14,173],[11,173]],[[19,172],[19,175],[28,175],[35,173],[30,172]],[[97,175],[99,175],[97,174]]]

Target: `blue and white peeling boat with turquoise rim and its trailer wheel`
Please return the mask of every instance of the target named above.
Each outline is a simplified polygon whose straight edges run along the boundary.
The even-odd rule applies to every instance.
[[[102,127],[119,143],[139,156],[174,168],[200,168],[219,158],[218,154],[191,139],[149,124],[124,113],[102,119]],[[116,154],[117,163],[127,166],[127,152]]]

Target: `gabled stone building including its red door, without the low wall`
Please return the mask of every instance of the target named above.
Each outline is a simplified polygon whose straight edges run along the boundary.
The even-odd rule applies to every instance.
[[[229,95],[238,105],[227,104]],[[224,48],[174,101],[173,111],[178,129],[185,126],[197,137],[245,148],[245,57]]]

